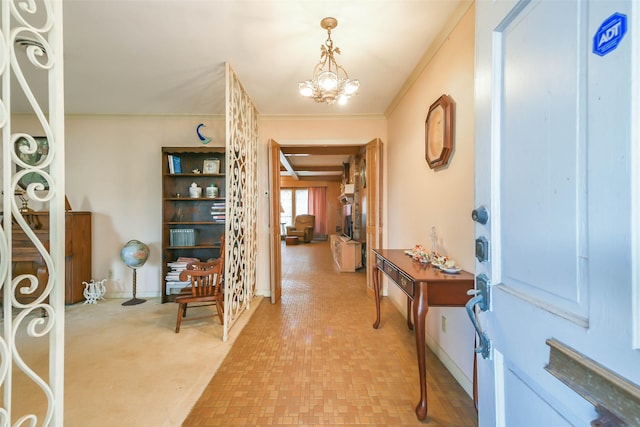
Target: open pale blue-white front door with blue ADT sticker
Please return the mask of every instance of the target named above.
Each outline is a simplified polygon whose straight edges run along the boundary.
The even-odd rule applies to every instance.
[[[480,426],[598,417],[546,369],[548,340],[640,384],[639,8],[476,3],[476,207],[488,212],[476,238],[489,248],[476,274],[490,299]]]

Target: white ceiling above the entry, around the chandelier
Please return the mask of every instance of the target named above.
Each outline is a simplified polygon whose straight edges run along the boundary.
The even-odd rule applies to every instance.
[[[260,114],[384,114],[461,3],[470,0],[64,0],[65,110],[224,114],[228,62]],[[297,91],[320,59],[327,16],[338,20],[338,63],[360,80],[346,106]]]

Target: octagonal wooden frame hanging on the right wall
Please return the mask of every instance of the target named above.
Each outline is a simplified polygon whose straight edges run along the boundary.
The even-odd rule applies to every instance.
[[[425,158],[431,169],[440,169],[449,162],[453,151],[454,102],[442,95],[427,113],[425,121]]]

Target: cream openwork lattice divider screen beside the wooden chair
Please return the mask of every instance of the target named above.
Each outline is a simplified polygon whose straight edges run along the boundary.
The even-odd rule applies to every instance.
[[[257,259],[258,113],[229,64],[226,74],[227,252],[223,340],[255,295]]]

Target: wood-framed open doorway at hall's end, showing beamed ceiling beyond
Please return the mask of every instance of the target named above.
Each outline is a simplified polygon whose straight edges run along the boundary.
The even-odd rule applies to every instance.
[[[299,203],[304,200],[302,189],[307,190],[308,204],[310,189],[326,188],[327,237],[342,233],[342,201],[344,197],[350,197],[357,206],[354,222],[359,229],[358,240],[364,248],[381,244],[382,142],[375,139],[366,144],[349,146],[282,146],[270,140],[269,153],[272,194],[270,222],[274,224],[271,233],[271,302],[276,303],[282,292],[281,245],[284,244],[285,233],[282,222],[286,223],[289,218],[293,220],[294,212],[302,208]],[[287,192],[288,189],[291,189],[290,192]],[[363,252],[363,264],[368,265],[369,251]],[[367,293],[372,295],[369,272],[367,276]]]

